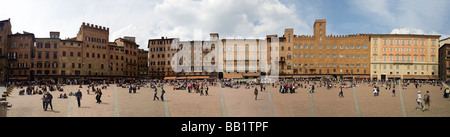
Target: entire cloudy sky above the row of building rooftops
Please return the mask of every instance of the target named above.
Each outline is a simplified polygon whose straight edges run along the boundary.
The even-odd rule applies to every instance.
[[[327,19],[327,34],[437,34],[450,36],[449,0],[8,0],[0,20],[12,31],[75,37],[82,22],[110,28],[109,41],[136,37],[140,48],[161,36],[193,40],[201,29],[220,38],[311,35],[315,19]]]

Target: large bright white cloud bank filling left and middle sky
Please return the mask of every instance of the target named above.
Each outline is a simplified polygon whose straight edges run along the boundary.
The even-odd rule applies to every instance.
[[[0,17],[12,19],[13,32],[48,37],[49,31],[60,31],[68,38],[86,22],[110,28],[109,41],[134,36],[144,49],[148,39],[161,36],[192,40],[194,29],[203,30],[204,40],[212,32],[221,38],[265,37],[287,27],[312,32],[297,15],[301,9],[278,0],[17,0],[8,5],[0,8]],[[20,12],[11,12],[17,7]]]

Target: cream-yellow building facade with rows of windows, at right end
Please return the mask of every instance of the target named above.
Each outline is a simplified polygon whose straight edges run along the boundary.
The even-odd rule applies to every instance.
[[[371,78],[438,79],[439,35],[371,35]]]

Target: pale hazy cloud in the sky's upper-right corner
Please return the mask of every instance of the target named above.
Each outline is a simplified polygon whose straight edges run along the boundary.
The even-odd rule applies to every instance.
[[[398,33],[449,33],[448,0],[349,0],[366,21]],[[423,31],[421,31],[423,30]]]

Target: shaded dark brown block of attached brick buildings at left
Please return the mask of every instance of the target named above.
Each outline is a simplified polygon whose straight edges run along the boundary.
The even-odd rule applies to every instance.
[[[9,20],[0,21],[1,82],[117,80],[137,77],[138,48],[134,37],[109,42],[109,28],[82,23],[74,38],[48,38],[33,33],[11,34]],[[144,58],[142,58],[144,59]],[[147,60],[147,59],[145,59]]]

